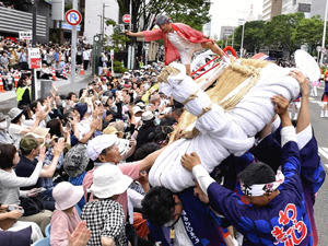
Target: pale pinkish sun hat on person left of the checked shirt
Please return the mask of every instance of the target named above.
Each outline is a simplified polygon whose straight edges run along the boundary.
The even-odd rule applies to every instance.
[[[75,206],[83,197],[83,187],[73,186],[71,183],[61,181],[52,189],[55,208],[66,210]]]

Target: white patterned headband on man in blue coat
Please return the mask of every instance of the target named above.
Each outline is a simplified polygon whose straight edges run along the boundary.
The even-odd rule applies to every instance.
[[[268,184],[260,184],[260,185],[251,185],[251,186],[245,186],[245,184],[241,184],[242,191],[246,196],[251,197],[259,197],[263,196],[265,194],[270,194],[274,191],[284,181],[284,175],[278,171],[276,175],[276,181],[268,183]]]

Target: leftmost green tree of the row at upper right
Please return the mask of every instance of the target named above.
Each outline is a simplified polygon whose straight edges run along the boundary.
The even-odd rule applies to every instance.
[[[265,42],[265,25],[263,21],[251,21],[245,23],[244,33],[244,48],[251,52],[257,52],[257,50],[262,46]],[[241,48],[243,35],[243,25],[238,26],[234,31],[234,43],[237,49]]]

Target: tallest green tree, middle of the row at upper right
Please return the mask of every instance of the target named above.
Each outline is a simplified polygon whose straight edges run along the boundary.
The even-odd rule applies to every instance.
[[[270,49],[284,49],[290,52],[295,49],[293,33],[304,19],[304,13],[293,13],[272,17],[265,25],[265,44]]]

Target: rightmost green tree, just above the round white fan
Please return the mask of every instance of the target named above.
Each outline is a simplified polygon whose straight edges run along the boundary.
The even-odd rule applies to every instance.
[[[311,52],[316,52],[323,38],[324,22],[319,16],[302,19],[292,35],[293,42],[301,46],[307,44]]]

